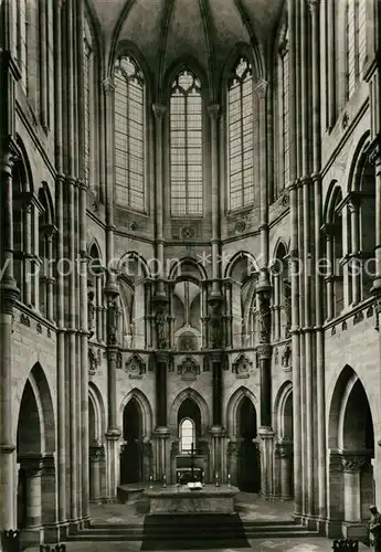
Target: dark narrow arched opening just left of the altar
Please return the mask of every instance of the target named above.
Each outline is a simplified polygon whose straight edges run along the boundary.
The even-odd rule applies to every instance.
[[[120,485],[142,479],[142,412],[133,396],[123,412],[124,445],[120,454]]]

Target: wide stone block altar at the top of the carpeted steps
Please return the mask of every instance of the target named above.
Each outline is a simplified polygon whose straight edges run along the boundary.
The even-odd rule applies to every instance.
[[[172,485],[146,489],[144,496],[149,502],[148,514],[234,513],[239,492],[229,485],[204,485],[200,489]]]

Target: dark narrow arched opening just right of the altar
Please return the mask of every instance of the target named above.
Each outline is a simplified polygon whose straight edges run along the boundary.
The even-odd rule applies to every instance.
[[[261,489],[261,458],[257,436],[257,418],[255,406],[248,396],[243,396],[237,407],[237,486],[246,492],[258,492]]]

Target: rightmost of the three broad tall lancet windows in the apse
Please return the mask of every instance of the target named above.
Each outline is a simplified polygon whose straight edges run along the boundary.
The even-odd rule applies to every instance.
[[[227,91],[230,209],[254,201],[253,71],[245,59],[236,64]]]

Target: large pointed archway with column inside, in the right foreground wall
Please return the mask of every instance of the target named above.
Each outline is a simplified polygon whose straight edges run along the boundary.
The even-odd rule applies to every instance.
[[[370,404],[358,374],[346,367],[329,413],[329,537],[367,534],[369,507],[374,502],[374,429]],[[353,532],[353,529],[351,529]]]

